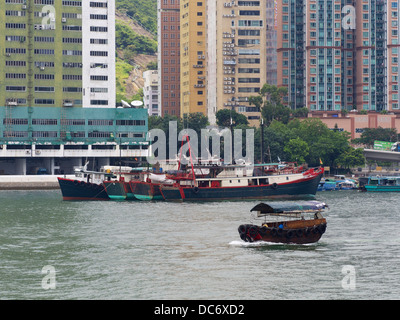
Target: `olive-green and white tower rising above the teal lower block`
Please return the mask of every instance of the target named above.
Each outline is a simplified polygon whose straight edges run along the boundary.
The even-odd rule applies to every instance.
[[[0,2],[0,105],[115,107],[114,1]]]

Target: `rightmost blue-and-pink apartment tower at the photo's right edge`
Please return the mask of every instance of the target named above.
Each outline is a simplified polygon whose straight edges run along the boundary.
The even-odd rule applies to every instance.
[[[388,90],[393,95],[391,77],[396,70],[392,67],[397,68],[397,63],[396,60],[390,61],[388,54],[389,51],[392,54],[391,48],[396,48],[393,43],[397,43],[398,39],[398,9],[397,2],[393,3],[395,7],[392,2],[356,1],[355,101],[358,107],[365,110],[392,108],[393,97],[389,96]],[[396,82],[395,79],[394,85]]]

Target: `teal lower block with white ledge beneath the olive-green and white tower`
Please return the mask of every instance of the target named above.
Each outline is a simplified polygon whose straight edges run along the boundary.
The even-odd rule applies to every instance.
[[[86,161],[99,170],[145,160],[147,131],[144,108],[0,107],[0,174],[71,174]]]

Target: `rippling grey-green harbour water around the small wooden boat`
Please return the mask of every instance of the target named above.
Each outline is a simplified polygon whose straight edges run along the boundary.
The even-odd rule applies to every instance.
[[[330,206],[326,233],[317,244],[283,245],[240,240],[258,202],[67,202],[58,190],[1,191],[0,299],[398,299],[400,194],[316,198]],[[54,289],[42,286],[45,266],[55,269]],[[344,281],[348,266],[354,276]]]

